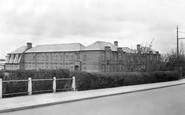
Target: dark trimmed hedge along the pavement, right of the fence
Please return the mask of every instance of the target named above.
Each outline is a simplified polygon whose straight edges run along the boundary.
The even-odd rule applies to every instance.
[[[178,80],[176,71],[87,73],[72,72],[79,91]]]

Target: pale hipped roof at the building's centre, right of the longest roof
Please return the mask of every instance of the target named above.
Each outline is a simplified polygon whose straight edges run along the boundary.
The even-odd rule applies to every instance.
[[[117,51],[117,46],[110,42],[97,41],[82,50],[105,50],[105,46],[110,46],[112,51]]]

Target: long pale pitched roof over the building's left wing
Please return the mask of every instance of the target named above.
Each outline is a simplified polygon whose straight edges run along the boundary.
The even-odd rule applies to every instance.
[[[37,46],[27,50],[26,53],[79,51],[83,48],[85,48],[85,46],[83,46],[80,43],[37,45]]]

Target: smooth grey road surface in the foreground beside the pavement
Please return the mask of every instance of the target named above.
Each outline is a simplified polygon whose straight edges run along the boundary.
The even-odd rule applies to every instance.
[[[185,85],[14,112],[15,115],[185,115]],[[13,115],[2,113],[2,115]]]

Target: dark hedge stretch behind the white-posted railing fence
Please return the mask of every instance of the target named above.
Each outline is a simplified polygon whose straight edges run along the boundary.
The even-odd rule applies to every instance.
[[[3,75],[3,80],[28,80],[29,77],[32,79],[52,79],[56,78],[68,78],[69,70],[60,69],[60,70],[17,70],[17,71],[8,71],[8,75]],[[1,73],[0,73],[1,76]],[[33,94],[43,92],[52,92],[53,81],[33,81],[32,82]],[[71,86],[70,81],[57,81],[57,89],[67,89]],[[22,92],[21,94],[12,94],[9,96],[16,95],[27,95],[28,82],[7,82],[3,83],[3,94]],[[46,91],[47,90],[47,91]],[[68,89],[69,90],[69,89]],[[23,93],[25,92],[25,94]]]

